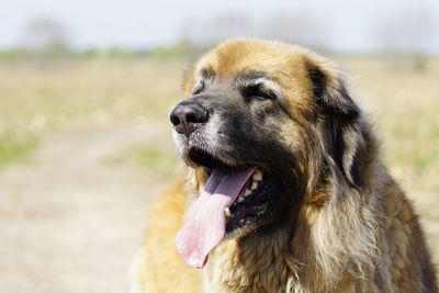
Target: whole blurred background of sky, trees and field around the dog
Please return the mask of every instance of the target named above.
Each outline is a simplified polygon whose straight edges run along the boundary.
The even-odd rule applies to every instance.
[[[180,173],[181,74],[233,36],[341,65],[439,262],[438,1],[14,0],[0,16],[0,292],[127,291],[148,204]]]

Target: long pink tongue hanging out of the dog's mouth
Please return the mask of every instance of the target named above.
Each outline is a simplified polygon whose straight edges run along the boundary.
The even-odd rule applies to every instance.
[[[204,267],[209,253],[224,237],[224,209],[236,200],[254,171],[254,168],[235,173],[213,170],[205,189],[190,206],[185,223],[176,237],[177,250],[188,266],[198,269]]]

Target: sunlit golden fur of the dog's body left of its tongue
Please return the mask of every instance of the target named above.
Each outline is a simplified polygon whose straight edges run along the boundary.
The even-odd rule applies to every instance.
[[[130,272],[132,293],[177,292],[177,288],[178,292],[199,292],[200,272],[187,268],[175,246],[185,205],[182,180],[154,201],[144,243]]]

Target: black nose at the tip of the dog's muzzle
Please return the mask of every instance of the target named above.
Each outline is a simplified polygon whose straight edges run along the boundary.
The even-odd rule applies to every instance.
[[[171,112],[170,120],[178,133],[189,137],[202,123],[207,121],[207,111],[198,103],[183,101]]]

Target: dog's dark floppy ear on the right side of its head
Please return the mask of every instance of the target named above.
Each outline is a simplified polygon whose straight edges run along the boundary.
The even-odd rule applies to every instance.
[[[360,110],[350,98],[341,76],[324,63],[307,64],[315,103],[324,120],[326,148],[347,181],[362,185],[359,151],[364,147]]]

